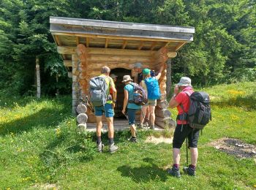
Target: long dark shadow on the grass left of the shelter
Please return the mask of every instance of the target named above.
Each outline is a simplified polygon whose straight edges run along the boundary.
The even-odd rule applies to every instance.
[[[18,134],[20,132],[29,132],[34,128],[50,128],[58,125],[70,113],[66,109],[54,110],[43,108],[37,113],[31,114],[24,118],[18,118],[7,123],[0,123],[0,136],[9,134],[10,132]]]

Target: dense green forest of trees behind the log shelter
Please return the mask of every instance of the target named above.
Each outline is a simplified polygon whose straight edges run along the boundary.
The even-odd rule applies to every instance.
[[[173,83],[256,80],[255,0],[0,0],[0,95],[35,94],[36,56],[42,94],[71,92],[50,16],[193,26],[194,41],[172,59]]]

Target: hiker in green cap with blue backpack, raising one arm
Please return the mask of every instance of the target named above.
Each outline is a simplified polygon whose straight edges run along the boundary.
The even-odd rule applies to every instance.
[[[149,109],[149,118],[151,121],[151,129],[155,129],[154,121],[155,121],[155,107],[157,106],[157,99],[160,98],[160,89],[158,85],[158,80],[161,77],[163,67],[159,69],[158,75],[156,77],[151,77],[150,69],[143,69],[143,75],[145,75],[145,79],[140,82],[140,86],[142,86],[148,93],[148,103],[145,104],[141,110],[140,115],[140,126],[143,126],[144,119],[147,115],[147,109]]]

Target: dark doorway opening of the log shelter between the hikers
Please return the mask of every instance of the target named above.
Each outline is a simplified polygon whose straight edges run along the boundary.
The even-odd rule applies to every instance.
[[[121,113],[121,110],[123,109],[123,103],[124,103],[124,83],[122,83],[121,81],[123,80],[124,75],[131,75],[131,72],[132,71],[130,69],[124,69],[124,68],[111,69],[110,74],[115,74],[118,76],[115,83],[117,97],[116,97],[116,107],[114,109],[115,111],[114,118],[126,119],[124,114]]]

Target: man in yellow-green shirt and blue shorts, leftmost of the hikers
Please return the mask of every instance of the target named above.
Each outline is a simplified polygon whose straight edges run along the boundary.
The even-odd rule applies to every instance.
[[[103,77],[105,79],[105,82],[107,83],[107,91],[105,94],[107,95],[108,99],[105,105],[102,106],[95,106],[95,116],[97,121],[97,148],[99,152],[102,152],[104,145],[102,144],[101,140],[101,129],[102,129],[102,115],[105,113],[105,117],[108,123],[108,142],[109,142],[109,151],[110,153],[114,153],[117,151],[118,146],[114,143],[114,128],[113,128],[113,108],[115,107],[116,103],[116,87],[113,82],[113,79],[109,76],[110,74],[110,68],[108,66],[102,67],[102,75],[99,75],[99,77]],[[110,96],[110,89],[113,91],[113,97],[112,99],[109,98]]]

